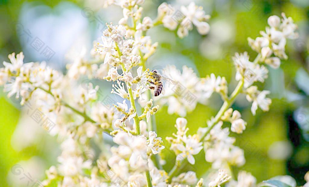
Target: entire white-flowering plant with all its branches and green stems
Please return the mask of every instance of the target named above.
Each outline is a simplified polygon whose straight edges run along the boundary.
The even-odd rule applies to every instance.
[[[161,77],[155,70],[147,68],[147,59],[155,53],[158,43],[152,43],[146,32],[159,24],[175,30],[180,38],[197,28],[204,35],[209,32],[206,22],[210,16],[206,15],[201,6],[194,2],[188,6],[181,6],[180,11],[171,5],[162,3],[158,8],[158,16],[153,21],[150,17],[142,18],[143,0],[105,1],[104,4],[119,5],[123,8],[123,18],[119,25],[107,24],[102,33],[102,42],[94,43],[91,54],[94,60],[85,60],[84,51],[81,55],[73,55],[74,63],[67,66],[67,74],[62,75],[44,63],[23,64],[23,53],[9,55],[11,63],[4,62],[0,69],[0,84],[8,91],[8,96],[22,96],[21,104],[35,98],[38,108],[44,113],[54,116],[57,121],[55,134],[63,137],[62,153],[58,157],[58,165],[52,166],[46,172],[48,179],[43,181],[49,185],[55,180],[59,186],[203,186],[203,179],[198,180],[195,172],[180,173],[186,164],[195,164],[194,155],[202,149],[205,160],[218,169],[218,176],[208,185],[220,186],[231,179],[222,168],[241,166],[245,163],[243,150],[234,144],[235,138],[229,137],[229,130],[242,133],[247,122],[241,118],[237,110],[230,108],[240,94],[246,94],[246,99],[252,102],[251,112],[256,114],[257,108],[269,110],[271,100],[266,98],[270,92],[259,91],[255,82],[264,82],[268,76],[269,65],[278,68],[280,59],[286,59],[286,39],[296,37],[297,28],[292,18],[282,14],[282,21],[278,16],[268,19],[270,28],[260,32],[262,37],[255,40],[248,38],[248,43],[258,55],[253,62],[249,61],[247,52],[235,53],[233,57],[238,81],[234,91],[229,96],[225,77],[210,74],[199,78],[192,68],[183,66],[182,71],[176,66],[164,69],[176,85],[164,84],[167,93],[152,96],[161,90]],[[177,17],[177,12],[182,14]],[[176,16],[176,17],[175,17]],[[101,63],[102,62],[102,63]],[[121,67],[121,74],[118,68]],[[102,78],[113,81],[111,93],[117,94],[124,100],[113,103],[114,108],[108,109],[97,101],[96,92],[91,83],[87,88],[75,83],[82,76],[88,78]],[[155,81],[153,81],[155,80]],[[76,82],[75,82],[76,81]],[[152,82],[153,81],[153,82]],[[160,87],[161,86],[161,87]],[[39,88],[39,89],[37,89]],[[177,93],[179,91],[181,93]],[[200,128],[196,134],[188,135],[187,120],[183,117],[192,112],[197,103],[206,104],[214,93],[218,93],[223,104],[207,127]],[[146,95],[146,99],[143,98]],[[127,101],[130,102],[130,107]],[[135,101],[138,101],[138,106]],[[65,102],[66,101],[66,102]],[[158,104],[154,106],[154,103]],[[176,154],[176,164],[169,174],[165,172],[160,162],[159,153],[165,147],[163,141],[156,134],[154,115],[159,106],[167,104],[169,114],[181,116],[176,120],[176,133],[167,137],[170,149]],[[60,110],[60,106],[64,106]],[[143,108],[138,115],[137,109]],[[42,112],[42,113],[43,113]],[[83,118],[83,119],[82,119]],[[131,122],[133,119],[133,123]],[[222,129],[223,121],[230,122],[231,127]],[[148,124],[148,127],[147,127]],[[102,132],[112,135],[117,146],[111,148],[101,145]],[[100,152],[91,147],[90,140],[100,147]],[[107,140],[108,141],[108,140]],[[112,143],[112,144],[114,144]],[[104,141],[104,144],[106,142]],[[109,150],[110,149],[110,150]],[[89,154],[90,153],[90,156]],[[155,156],[155,163],[150,159]],[[85,173],[84,169],[91,171]],[[255,178],[246,172],[238,173],[238,182],[229,182],[242,186],[242,179],[246,178],[255,184]],[[123,183],[123,184],[121,184]]]

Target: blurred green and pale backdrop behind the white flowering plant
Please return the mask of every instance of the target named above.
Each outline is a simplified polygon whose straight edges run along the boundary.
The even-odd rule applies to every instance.
[[[63,72],[67,63],[65,54],[72,45],[82,43],[90,50],[92,41],[100,36],[104,23],[117,23],[117,19],[122,16],[119,7],[103,9],[104,0],[0,2],[0,61],[8,61],[7,55],[12,52],[23,51],[24,62],[45,60],[50,66]],[[154,19],[156,8],[161,2],[146,0],[145,14]],[[167,2],[188,5],[190,1]],[[196,4],[203,6],[212,17],[210,33],[200,36],[193,29],[189,36],[179,39],[174,32],[161,26],[154,28],[149,34],[153,41],[159,41],[160,45],[157,53],[149,59],[150,68],[171,63],[181,69],[181,66],[186,64],[193,67],[200,77],[210,73],[225,76],[228,83],[231,83],[232,90],[235,87],[235,70],[231,56],[235,52],[248,51],[253,60],[256,55],[248,46],[247,37],[259,36],[259,31],[267,26],[267,18],[270,15],[280,15],[281,12],[291,16],[298,24],[299,39],[288,41],[286,45],[289,59],[282,60],[279,69],[270,69],[266,82],[258,84],[260,89],[272,92],[270,111],[263,113],[258,110],[256,116],[252,116],[250,105],[243,102],[243,96],[233,105],[233,108],[242,113],[248,126],[243,134],[231,133],[231,136],[237,138],[236,145],[244,149],[246,158],[244,166],[233,167],[232,170],[235,173],[239,170],[251,172],[258,182],[277,175],[291,175],[298,185],[303,185],[303,177],[309,170],[309,1],[200,0],[196,1]],[[85,7],[93,10],[92,17],[83,15]],[[113,14],[110,14],[111,10]],[[28,34],[21,33],[21,26],[23,30],[29,31]],[[55,51],[53,58],[44,59],[44,56],[29,47],[36,36]],[[110,85],[105,85],[102,81],[96,83],[109,91]],[[16,143],[14,133],[18,125],[21,125],[20,119],[25,112],[21,112],[23,109],[14,99],[6,98],[3,92],[0,96],[1,186],[11,186],[8,176],[10,169],[23,160],[40,163],[36,170],[39,173],[37,177],[44,179],[44,169],[56,164],[57,155],[60,153],[56,138],[43,132],[36,138],[35,143],[22,148],[16,146],[18,141]],[[206,121],[216,114],[221,104],[222,101],[217,96],[213,96],[207,106],[198,104],[187,116],[189,133],[195,133],[199,125],[205,127]],[[177,117],[167,115],[167,107],[161,108],[156,114],[160,137],[165,139],[176,131],[174,124]],[[23,142],[23,136],[17,138],[20,139],[19,142]],[[175,155],[165,149],[163,157],[174,158]],[[203,176],[211,166],[204,157],[203,151],[195,156],[194,169],[198,177]],[[169,171],[172,164],[173,162],[168,162],[164,168]]]

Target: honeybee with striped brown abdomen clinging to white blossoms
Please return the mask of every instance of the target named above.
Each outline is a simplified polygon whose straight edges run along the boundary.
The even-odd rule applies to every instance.
[[[149,88],[155,91],[155,96],[159,96],[163,90],[162,80],[167,81],[171,84],[176,84],[175,81],[173,81],[172,79],[161,76],[157,70],[152,70],[151,72],[149,72],[149,78],[150,80],[148,80],[148,82],[154,85]]]

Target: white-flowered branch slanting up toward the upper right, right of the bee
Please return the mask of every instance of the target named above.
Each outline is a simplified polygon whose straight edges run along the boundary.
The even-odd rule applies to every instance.
[[[224,101],[217,115],[208,121],[208,126],[206,128],[199,129],[197,132],[198,142],[205,142],[205,159],[206,161],[213,162],[214,168],[222,167],[224,163],[226,163],[228,166],[235,164],[242,165],[244,163],[242,150],[240,151],[238,147],[229,145],[230,143],[227,143],[226,145],[220,143],[222,141],[231,143],[235,142],[234,139],[227,136],[229,133],[227,128],[223,130],[221,129],[222,121],[231,122],[232,132],[242,133],[246,128],[247,123],[240,118],[241,114],[236,110],[233,112],[233,109],[229,108],[234,103],[239,93],[247,94],[247,100],[253,101],[251,107],[253,115],[256,113],[257,106],[259,106],[263,111],[269,110],[269,104],[271,104],[271,100],[269,98],[265,98],[265,95],[269,94],[269,91],[258,91],[256,86],[251,85],[256,81],[264,82],[264,79],[267,78],[268,70],[265,68],[265,66],[259,65],[259,62],[264,62],[273,68],[278,68],[280,65],[280,59],[278,57],[285,59],[287,58],[284,52],[286,38],[294,39],[297,34],[294,33],[296,26],[293,23],[293,20],[291,18],[286,18],[284,14],[282,14],[282,17],[283,19],[281,24],[279,17],[269,17],[268,23],[272,28],[266,28],[266,33],[261,32],[261,34],[264,36],[263,38],[258,37],[256,40],[251,38],[248,39],[249,45],[252,47],[252,49],[258,52],[258,55],[253,62],[249,61],[249,57],[246,52],[240,55],[236,53],[235,57],[233,57],[237,70],[235,79],[238,80],[239,83],[230,97],[226,96],[227,87],[224,78],[216,78],[213,74],[211,74],[210,77],[207,77],[205,81],[202,82],[202,84],[205,85],[205,87],[202,87],[202,89],[208,92],[208,94],[206,94],[207,97],[209,97],[213,91],[216,91],[220,93]],[[279,44],[277,45],[277,43]],[[271,57],[272,54],[278,57]],[[167,140],[171,142],[171,149],[176,152],[177,159],[181,154],[190,154],[189,150],[194,145],[192,144],[187,148],[187,145],[184,143],[186,145],[186,149],[178,147],[179,143],[184,142],[182,138],[185,138],[185,136],[182,137],[182,135],[185,134],[186,131],[180,130],[181,128],[178,127],[179,124],[177,124],[177,121],[176,125],[178,130],[177,134],[174,134],[176,139],[167,137]],[[179,139],[182,142],[180,142]],[[230,140],[228,141],[226,139]],[[223,158],[220,158],[220,156],[218,158],[218,155],[222,154],[222,149],[227,151],[227,153],[230,152],[227,159],[224,155],[222,156]],[[196,151],[195,154],[197,153],[198,152]],[[233,154],[235,156],[238,155],[238,158],[235,158]],[[194,164],[192,155],[191,158],[187,157],[190,164]],[[186,160],[184,159],[176,162],[175,166],[169,173],[169,181],[171,181],[171,179],[176,176],[185,162]]]

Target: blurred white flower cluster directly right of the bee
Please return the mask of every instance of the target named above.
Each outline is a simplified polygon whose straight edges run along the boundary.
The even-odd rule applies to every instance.
[[[226,79],[215,77],[214,74],[198,78],[193,69],[187,66],[182,67],[182,72],[176,66],[167,66],[163,69],[163,75],[171,77],[175,83],[164,82],[165,93],[155,100],[160,105],[167,104],[169,114],[185,117],[195,109],[197,103],[206,104],[213,92],[223,97],[227,94]]]

